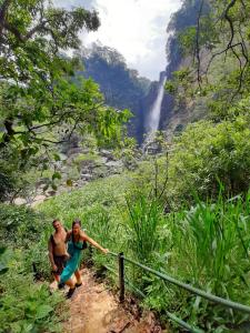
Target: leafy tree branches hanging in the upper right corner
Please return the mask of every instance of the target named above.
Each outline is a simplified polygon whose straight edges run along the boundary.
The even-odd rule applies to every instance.
[[[179,27],[177,18],[190,12],[191,2],[183,2],[170,28]],[[168,90],[188,98],[208,95],[212,117],[220,120],[248,95],[250,8],[247,1],[194,2],[194,21],[177,30],[182,57],[190,61],[173,74]]]

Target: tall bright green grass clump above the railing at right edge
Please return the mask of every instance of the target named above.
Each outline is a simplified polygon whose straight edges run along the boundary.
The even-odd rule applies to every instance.
[[[172,224],[174,245],[181,250],[179,260],[186,263],[186,275],[200,286],[209,278],[214,293],[231,294],[236,279],[248,286],[250,211],[248,198],[224,203],[197,201],[197,205]],[[247,264],[247,266],[246,266]],[[228,287],[224,283],[230,282]]]

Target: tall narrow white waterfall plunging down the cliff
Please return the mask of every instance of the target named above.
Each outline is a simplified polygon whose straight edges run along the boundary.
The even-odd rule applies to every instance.
[[[149,112],[149,117],[146,122],[146,130],[149,135],[152,135],[159,128],[160,115],[161,115],[161,103],[164,95],[164,83],[166,83],[166,75],[161,78],[160,84],[158,88],[157,99],[152,104],[152,108]]]

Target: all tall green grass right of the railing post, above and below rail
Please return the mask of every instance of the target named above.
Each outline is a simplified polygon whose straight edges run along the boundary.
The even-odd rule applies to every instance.
[[[216,295],[250,304],[250,196],[202,202],[177,213],[163,213],[157,198],[139,193],[127,198],[129,255]],[[166,304],[206,332],[227,332],[227,324],[249,316],[211,304],[199,296],[129,266],[129,278],[148,295],[146,304]]]

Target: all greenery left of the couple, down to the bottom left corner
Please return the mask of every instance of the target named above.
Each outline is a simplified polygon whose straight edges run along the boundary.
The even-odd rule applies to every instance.
[[[47,242],[51,223],[26,206],[0,204],[0,332],[61,332],[62,296],[51,294]],[[6,250],[7,249],[7,250]],[[33,271],[36,266],[37,272]]]

